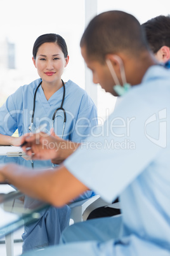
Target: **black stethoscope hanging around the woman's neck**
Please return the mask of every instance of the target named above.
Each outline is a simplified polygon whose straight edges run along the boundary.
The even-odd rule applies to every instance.
[[[31,117],[31,123],[30,123],[30,126],[29,126],[29,131],[30,132],[35,132],[36,131],[36,127],[34,125],[34,112],[35,112],[35,108],[36,108],[36,94],[37,94],[37,90],[39,89],[40,85],[42,83],[42,80],[41,82],[39,83],[39,85],[37,86],[36,88],[36,91],[34,93],[34,104],[33,104],[33,110],[32,110],[32,117]],[[63,98],[62,98],[62,103],[60,105],[60,108],[56,108],[55,112],[53,113],[53,117],[52,117],[52,120],[53,120],[53,123],[52,123],[52,127],[54,127],[54,122],[55,122],[55,116],[56,116],[56,113],[59,111],[59,110],[62,110],[63,111],[63,131],[62,131],[62,138],[63,138],[63,133],[64,133],[64,129],[65,129],[65,123],[66,123],[66,113],[65,113],[65,109],[63,108],[63,102],[64,102],[64,99],[65,99],[65,84],[62,80],[62,83],[63,83]]]

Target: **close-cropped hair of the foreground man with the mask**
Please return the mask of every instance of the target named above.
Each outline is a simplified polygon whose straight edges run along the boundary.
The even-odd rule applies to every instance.
[[[106,11],[93,18],[82,35],[82,46],[88,57],[100,62],[109,53],[126,52],[133,57],[148,49],[140,23],[124,11]]]

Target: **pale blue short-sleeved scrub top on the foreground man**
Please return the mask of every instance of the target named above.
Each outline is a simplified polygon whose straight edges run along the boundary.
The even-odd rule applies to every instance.
[[[64,162],[106,201],[120,198],[122,235],[103,244],[104,255],[160,256],[158,248],[170,251],[169,99],[169,70],[150,67],[106,120],[105,136],[90,137]],[[91,244],[92,251],[95,255]]]

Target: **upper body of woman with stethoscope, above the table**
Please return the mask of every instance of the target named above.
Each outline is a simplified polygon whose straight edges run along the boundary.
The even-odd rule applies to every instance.
[[[39,36],[34,43],[32,60],[40,78],[20,87],[0,108],[0,144],[19,146],[20,136],[34,132],[43,123],[47,125],[46,131],[54,127],[58,136],[62,137],[63,133],[63,139],[79,142],[85,139],[89,136],[91,127],[96,125],[96,107],[88,94],[71,80],[64,83],[63,99],[64,87],[61,77],[69,62],[65,40],[56,34]],[[39,84],[41,85],[37,89]],[[55,110],[61,107],[62,101],[66,112],[64,132],[63,111],[58,110],[55,113]],[[19,138],[11,136],[16,129]]]

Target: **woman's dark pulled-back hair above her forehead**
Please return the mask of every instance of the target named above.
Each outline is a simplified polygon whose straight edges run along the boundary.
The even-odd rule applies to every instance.
[[[34,59],[36,59],[39,46],[41,46],[43,43],[56,43],[62,50],[64,57],[67,57],[67,45],[65,43],[65,39],[63,39],[62,36],[60,36],[59,34],[42,34],[36,39],[33,46],[32,55]]]

